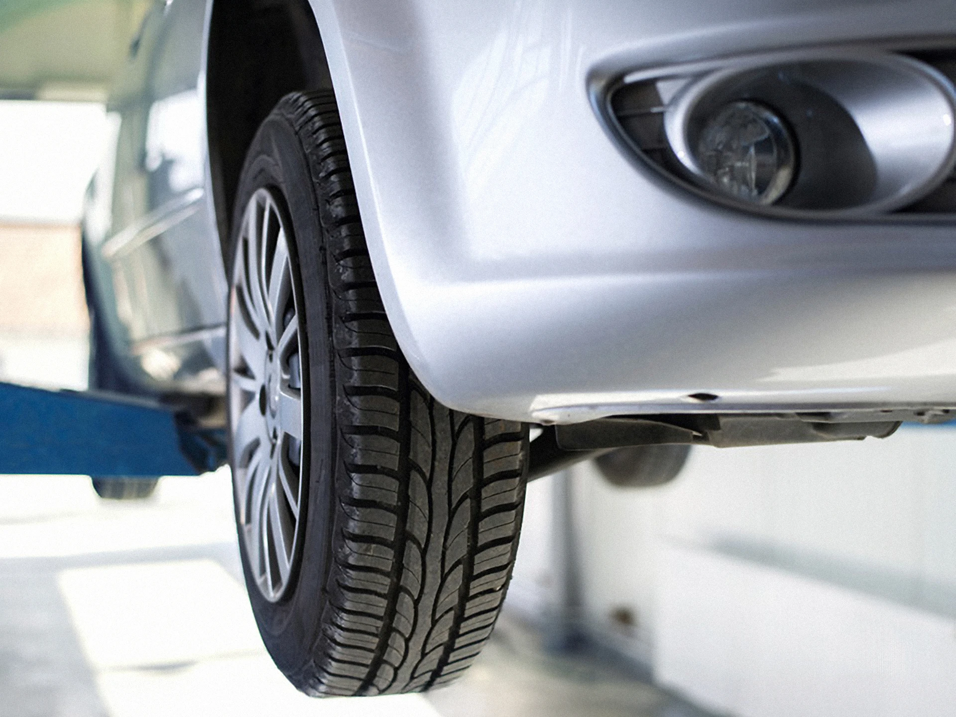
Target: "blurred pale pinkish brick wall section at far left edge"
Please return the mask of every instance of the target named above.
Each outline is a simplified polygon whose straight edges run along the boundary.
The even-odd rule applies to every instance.
[[[80,337],[88,330],[79,229],[0,224],[0,334]]]

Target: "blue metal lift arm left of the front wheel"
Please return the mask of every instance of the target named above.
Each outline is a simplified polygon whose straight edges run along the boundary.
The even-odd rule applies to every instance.
[[[0,474],[199,475],[226,462],[226,431],[158,402],[0,382]]]

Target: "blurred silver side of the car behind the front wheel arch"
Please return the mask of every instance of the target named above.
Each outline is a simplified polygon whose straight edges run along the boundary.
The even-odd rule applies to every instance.
[[[144,389],[224,390],[222,255],[208,201],[211,3],[147,14],[108,106],[115,142],[91,186],[85,252],[113,349]]]

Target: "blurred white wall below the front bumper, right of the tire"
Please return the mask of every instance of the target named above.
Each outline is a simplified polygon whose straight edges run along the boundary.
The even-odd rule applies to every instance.
[[[691,452],[659,489],[576,467],[584,629],[744,717],[956,713],[956,429]],[[532,484],[546,505],[554,478]],[[532,509],[518,609],[560,570]],[[532,564],[533,563],[533,564]]]

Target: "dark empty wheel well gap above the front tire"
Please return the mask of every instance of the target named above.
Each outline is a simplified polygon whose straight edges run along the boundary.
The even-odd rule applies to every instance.
[[[256,130],[290,92],[332,89],[308,0],[217,0],[206,61],[213,203],[225,246],[239,174]]]

